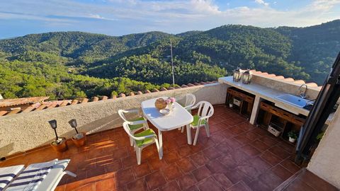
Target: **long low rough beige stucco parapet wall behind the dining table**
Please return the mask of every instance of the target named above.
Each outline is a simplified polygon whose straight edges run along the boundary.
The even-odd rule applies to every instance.
[[[77,119],[78,129],[81,132],[100,132],[120,127],[122,121],[117,113],[119,109],[140,108],[140,103],[143,100],[160,96],[183,98],[186,93],[195,94],[197,101],[207,100],[212,104],[220,104],[225,103],[227,85],[210,83],[172,91],[147,93],[3,116],[0,117],[0,157],[50,144],[55,134],[48,124],[49,120],[57,120],[58,135],[69,139],[74,135],[74,129],[68,124],[71,119]]]

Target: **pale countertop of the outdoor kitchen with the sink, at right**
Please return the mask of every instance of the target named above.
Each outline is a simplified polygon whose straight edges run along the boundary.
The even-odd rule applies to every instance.
[[[269,100],[269,101],[275,103],[275,105],[278,108],[282,108],[283,110],[287,110],[289,112],[293,112],[295,114],[301,114],[301,115],[305,115],[305,116],[307,116],[310,113],[309,110],[306,110],[304,108],[297,108],[296,106],[291,105],[290,103],[285,103],[282,100],[278,100],[276,98],[277,96],[282,96],[284,94],[287,94],[283,91],[278,91],[278,90],[273,89],[273,88],[268,88],[268,87],[262,86],[258,83],[244,84],[244,83],[242,83],[242,81],[238,81],[238,82],[233,81],[232,76],[219,78],[218,82],[225,83],[229,86],[239,88],[242,91],[249,92],[249,93],[253,94],[254,96],[259,96],[260,98],[263,98],[265,100]],[[326,121],[327,125],[329,124],[329,122],[331,122],[332,118],[333,118],[333,113],[331,113],[331,115],[329,115],[329,117]]]

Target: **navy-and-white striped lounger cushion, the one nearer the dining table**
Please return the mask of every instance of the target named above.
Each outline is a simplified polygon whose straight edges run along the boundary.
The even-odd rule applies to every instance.
[[[50,173],[51,168],[55,165],[57,159],[46,163],[31,164],[18,175],[7,190],[36,190],[46,175]]]

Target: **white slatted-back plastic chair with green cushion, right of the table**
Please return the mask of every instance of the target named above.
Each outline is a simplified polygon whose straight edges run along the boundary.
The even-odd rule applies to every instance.
[[[190,128],[196,129],[195,139],[193,140],[193,145],[196,145],[198,134],[200,133],[200,127],[205,127],[205,132],[207,136],[210,137],[209,132],[209,117],[214,114],[214,108],[208,101],[200,101],[193,109],[198,108],[197,115],[193,115],[193,122],[189,125]]]

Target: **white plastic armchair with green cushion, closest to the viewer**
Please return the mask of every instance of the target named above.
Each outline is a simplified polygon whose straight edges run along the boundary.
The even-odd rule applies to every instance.
[[[126,133],[128,133],[129,137],[133,141],[133,146],[136,151],[136,156],[137,156],[137,164],[140,165],[140,162],[142,161],[142,149],[145,147],[151,145],[151,144],[156,144],[157,146],[157,151],[159,154],[159,142],[157,139],[157,134],[154,133],[154,130],[152,129],[146,129],[140,133],[137,134],[132,134],[130,131],[129,125],[139,125],[141,121],[137,122],[123,122],[123,127]],[[159,159],[162,157],[159,154]]]

